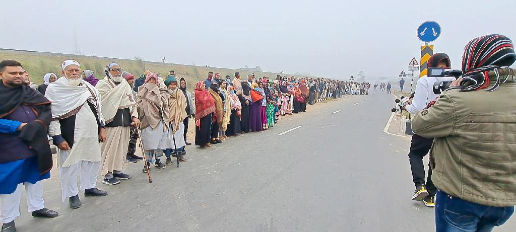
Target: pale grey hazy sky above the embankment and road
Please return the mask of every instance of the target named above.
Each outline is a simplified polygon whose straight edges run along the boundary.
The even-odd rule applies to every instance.
[[[423,42],[416,28],[442,27],[431,43],[460,69],[471,39],[516,42],[516,1],[62,1],[0,7],[0,47],[347,78],[396,76]]]

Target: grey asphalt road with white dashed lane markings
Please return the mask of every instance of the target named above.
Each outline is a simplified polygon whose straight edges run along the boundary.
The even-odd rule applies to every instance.
[[[44,197],[60,216],[31,218],[23,196],[15,222],[19,231],[435,231],[433,208],[410,200],[410,140],[383,132],[393,100],[351,95],[266,132],[187,146],[188,162],[153,167],[152,184],[143,162],[127,164],[131,179],[99,180],[109,195],[79,193],[75,210],[60,201],[54,168]],[[516,231],[514,218],[495,231]]]

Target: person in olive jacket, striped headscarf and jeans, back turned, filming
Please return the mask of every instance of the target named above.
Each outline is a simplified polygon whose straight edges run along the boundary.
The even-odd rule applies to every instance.
[[[515,60],[505,36],[472,40],[464,75],[412,119],[416,134],[434,138],[437,231],[491,231],[514,212],[516,70],[508,66]]]

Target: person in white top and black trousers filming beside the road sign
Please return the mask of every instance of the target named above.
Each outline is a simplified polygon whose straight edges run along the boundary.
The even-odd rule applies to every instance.
[[[436,53],[428,59],[428,68],[449,68],[451,66],[448,55],[444,53]],[[429,77],[423,76],[417,80],[416,89],[410,105],[406,105],[404,110],[412,114],[417,113],[425,108],[430,101],[438,97],[433,93],[432,87],[436,81],[449,81],[454,77]],[[428,169],[428,177],[425,184],[425,165],[423,157],[428,154],[432,146],[432,138],[424,138],[414,134],[412,136],[409,152],[410,170],[412,171],[412,180],[416,186],[412,200],[423,201],[428,207],[434,207],[434,196],[436,195],[436,187],[432,183],[432,170]]]

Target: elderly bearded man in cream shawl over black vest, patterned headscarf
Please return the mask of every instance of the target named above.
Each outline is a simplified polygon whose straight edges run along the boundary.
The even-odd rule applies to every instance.
[[[119,179],[129,179],[131,175],[122,173],[122,167],[129,145],[131,125],[140,127],[136,100],[131,86],[122,77],[122,69],[117,63],[106,67],[106,77],[99,80],[95,88],[102,96],[102,114],[106,120],[107,139],[102,144],[102,183],[120,184]]]

